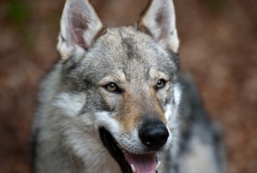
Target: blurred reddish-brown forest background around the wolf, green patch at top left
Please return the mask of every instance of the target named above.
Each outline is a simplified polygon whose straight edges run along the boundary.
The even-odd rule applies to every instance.
[[[92,0],[109,26],[133,25],[147,0]],[[257,170],[257,1],[174,0],[181,69],[224,130],[228,172]],[[0,172],[30,172],[40,78],[59,58],[64,0],[0,0]]]

